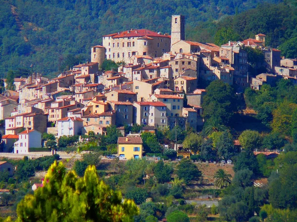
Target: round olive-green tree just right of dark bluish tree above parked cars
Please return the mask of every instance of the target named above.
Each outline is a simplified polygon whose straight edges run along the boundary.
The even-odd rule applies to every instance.
[[[245,130],[238,138],[242,148],[253,151],[261,145],[261,136],[257,131]]]

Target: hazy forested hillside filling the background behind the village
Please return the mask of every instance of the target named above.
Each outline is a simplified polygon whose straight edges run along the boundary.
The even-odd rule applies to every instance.
[[[283,43],[284,50],[291,50],[286,47],[296,45],[287,41],[296,37],[295,8],[280,0],[262,2],[8,0],[0,6],[0,75],[17,68],[54,75],[69,62],[89,59],[90,47],[102,35],[131,28],[170,33],[172,14],[186,16],[186,37],[191,40],[213,42],[217,30],[231,27],[242,38],[265,33],[273,46]]]

